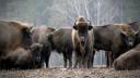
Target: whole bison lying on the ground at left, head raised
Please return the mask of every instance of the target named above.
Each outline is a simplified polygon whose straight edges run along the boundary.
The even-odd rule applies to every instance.
[[[1,68],[38,68],[40,67],[40,52],[42,44],[39,43],[32,44],[30,50],[18,48],[14,51],[9,52],[5,56],[2,56]]]

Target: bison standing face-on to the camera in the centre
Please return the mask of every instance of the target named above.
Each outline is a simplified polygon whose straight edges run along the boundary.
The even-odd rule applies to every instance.
[[[74,67],[92,67],[92,54],[94,44],[93,27],[84,17],[78,17],[71,32],[75,53]]]

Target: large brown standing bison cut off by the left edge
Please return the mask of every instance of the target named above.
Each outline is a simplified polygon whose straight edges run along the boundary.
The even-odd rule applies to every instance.
[[[0,21],[0,65],[7,54],[18,48],[28,49],[31,44],[28,26],[18,22]]]

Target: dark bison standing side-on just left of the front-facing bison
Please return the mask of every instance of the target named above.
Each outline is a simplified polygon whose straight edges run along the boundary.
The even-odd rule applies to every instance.
[[[63,54],[65,67],[67,67],[67,60],[69,60],[69,67],[72,67],[72,40],[70,28],[60,28],[48,36],[51,49],[58,53]]]

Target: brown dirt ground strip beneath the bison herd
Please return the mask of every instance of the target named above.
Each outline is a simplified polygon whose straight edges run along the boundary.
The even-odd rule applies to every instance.
[[[0,78],[140,78],[140,70],[46,68],[1,70]]]

